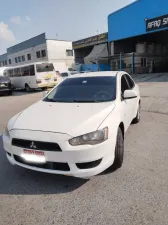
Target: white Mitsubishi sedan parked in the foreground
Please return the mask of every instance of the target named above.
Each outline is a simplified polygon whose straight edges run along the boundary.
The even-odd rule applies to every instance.
[[[126,72],[78,74],[10,119],[3,144],[13,165],[88,178],[122,166],[125,132],[139,120],[139,88]]]

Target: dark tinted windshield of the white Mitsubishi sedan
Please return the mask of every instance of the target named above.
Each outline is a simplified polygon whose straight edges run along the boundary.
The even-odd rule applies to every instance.
[[[78,77],[64,80],[44,101],[107,102],[115,98],[115,77]]]

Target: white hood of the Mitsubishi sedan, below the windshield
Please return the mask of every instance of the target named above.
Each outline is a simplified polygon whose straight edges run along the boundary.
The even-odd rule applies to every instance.
[[[72,137],[98,129],[115,102],[51,103],[40,101],[24,110],[12,129],[65,133]]]

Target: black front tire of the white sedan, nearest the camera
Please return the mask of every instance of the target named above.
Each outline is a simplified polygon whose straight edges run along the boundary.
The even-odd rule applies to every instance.
[[[117,141],[115,147],[115,159],[112,167],[114,169],[121,168],[124,159],[124,137],[121,128],[118,128]]]

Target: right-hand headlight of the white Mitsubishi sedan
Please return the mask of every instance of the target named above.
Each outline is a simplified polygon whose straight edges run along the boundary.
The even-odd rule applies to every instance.
[[[96,145],[108,139],[108,127],[69,140],[72,146]]]

